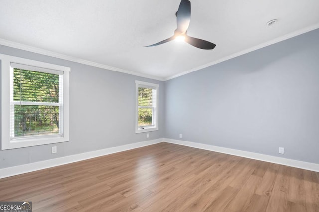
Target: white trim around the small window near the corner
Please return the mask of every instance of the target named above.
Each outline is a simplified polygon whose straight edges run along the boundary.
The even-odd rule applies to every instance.
[[[155,105],[155,116],[156,117],[155,117],[154,123],[152,123],[152,126],[146,126],[144,128],[138,127],[139,87],[156,89],[156,105]],[[150,132],[150,131],[156,131],[156,130],[159,130],[159,85],[136,80],[135,81],[135,133],[144,133],[144,132]]]

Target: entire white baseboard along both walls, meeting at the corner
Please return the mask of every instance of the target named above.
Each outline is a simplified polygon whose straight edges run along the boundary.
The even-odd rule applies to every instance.
[[[261,161],[271,162],[271,163],[277,163],[277,164],[281,164],[281,165],[286,165],[286,166],[291,166],[291,167],[296,167],[296,168],[301,168],[301,169],[319,172],[319,164],[316,164],[316,163],[309,163],[309,162],[304,162],[304,161],[299,161],[299,160],[287,159],[287,158],[282,158],[282,157],[275,157],[275,156],[271,156],[271,155],[259,154],[259,153],[242,151],[242,150],[237,150],[237,149],[230,149],[230,148],[208,145],[208,144],[203,144],[203,143],[195,143],[195,142],[190,142],[190,141],[160,138],[160,139],[155,139],[155,140],[142,141],[142,142],[127,144],[127,145],[122,145],[122,146],[116,146],[116,147],[105,148],[105,149],[96,150],[96,151],[85,152],[85,153],[81,153],[81,154],[59,157],[59,158],[39,161],[39,162],[35,162],[35,163],[28,163],[28,164],[19,165],[19,166],[3,168],[3,169],[0,169],[0,179],[5,178],[5,177],[18,175],[18,174],[27,173],[27,172],[51,168],[54,166],[73,163],[73,162],[77,162],[77,161],[81,161],[81,160],[87,160],[90,158],[104,156],[104,155],[108,155],[108,154],[113,154],[113,153],[126,151],[126,150],[130,150],[130,149],[135,149],[135,148],[139,148],[139,147],[143,147],[143,146],[153,145],[153,144],[160,143],[160,142],[174,143],[174,144],[178,144],[178,145],[184,145],[184,146],[189,146],[189,147],[193,147],[193,148],[205,149],[205,150],[209,150],[209,151],[215,151],[215,152],[220,152],[220,153],[225,153],[225,154],[230,154],[230,155],[236,155],[236,156],[240,156],[240,157],[246,157],[246,158],[250,158],[250,159],[261,160]]]

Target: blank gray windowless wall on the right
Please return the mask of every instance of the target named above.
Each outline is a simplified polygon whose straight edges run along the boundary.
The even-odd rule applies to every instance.
[[[167,138],[319,163],[319,30],[169,80],[165,102]]]

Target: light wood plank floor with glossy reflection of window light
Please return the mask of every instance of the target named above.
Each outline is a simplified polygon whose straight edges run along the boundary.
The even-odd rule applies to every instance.
[[[33,212],[319,212],[319,173],[170,143],[0,179]]]

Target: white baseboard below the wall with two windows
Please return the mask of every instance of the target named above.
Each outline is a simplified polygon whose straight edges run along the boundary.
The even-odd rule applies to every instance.
[[[116,152],[121,152],[121,151],[135,149],[135,148],[139,148],[139,147],[143,147],[143,146],[153,145],[153,144],[161,143],[161,142],[163,142],[163,138],[149,140],[149,141],[142,141],[142,142],[127,144],[127,145],[122,145],[122,146],[116,146],[116,147],[111,147],[111,148],[105,148],[105,149],[96,150],[96,151],[84,152],[81,154],[59,157],[59,158],[39,161],[39,162],[35,162],[35,163],[28,163],[28,164],[19,165],[19,166],[12,166],[12,167],[8,167],[8,168],[3,168],[3,169],[0,169],[0,179],[5,178],[5,177],[10,177],[13,175],[24,174],[24,173],[31,172],[31,171],[37,171],[37,170],[41,170],[41,169],[51,168],[54,166],[64,165],[67,163],[73,163],[73,162],[77,162],[77,161],[81,161],[81,160],[87,160],[87,159],[94,158],[94,157],[113,154]]]

